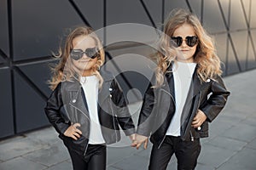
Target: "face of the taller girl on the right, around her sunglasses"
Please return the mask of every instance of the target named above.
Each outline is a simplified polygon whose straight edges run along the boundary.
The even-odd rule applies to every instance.
[[[194,54],[195,54],[195,50],[198,44],[197,41],[197,37],[195,35],[195,31],[193,26],[190,26],[187,23],[184,23],[182,26],[177,27],[177,29],[173,32],[172,35],[173,38],[178,38],[178,37],[182,37],[183,40],[181,40],[181,45],[179,47],[177,47],[177,61],[180,62],[189,62],[189,63],[193,63],[194,62]],[[194,39],[191,39],[191,37],[194,37]],[[190,39],[189,39],[190,38]],[[196,39],[196,43],[192,45],[194,45],[193,47],[187,44],[187,40],[194,41]]]

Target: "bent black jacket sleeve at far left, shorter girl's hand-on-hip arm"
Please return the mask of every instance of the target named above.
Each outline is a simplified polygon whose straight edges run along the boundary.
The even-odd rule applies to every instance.
[[[61,96],[61,83],[50,94],[49,99],[44,107],[44,112],[49,119],[49,122],[55,127],[58,133],[65,133],[69,124],[65,122],[61,116],[61,107],[63,106],[63,100]]]

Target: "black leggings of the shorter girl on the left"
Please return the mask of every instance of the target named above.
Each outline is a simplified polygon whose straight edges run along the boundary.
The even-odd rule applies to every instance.
[[[106,169],[106,145],[89,144],[85,156],[79,155],[74,150],[68,150],[73,170],[105,170]]]

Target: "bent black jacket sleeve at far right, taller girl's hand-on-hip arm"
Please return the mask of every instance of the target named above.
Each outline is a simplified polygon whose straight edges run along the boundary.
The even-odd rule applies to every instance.
[[[207,102],[200,107],[201,111],[206,114],[208,122],[212,122],[219,112],[223,110],[230,95],[221,77],[217,77],[216,80],[212,81],[211,92],[212,94],[207,99]]]

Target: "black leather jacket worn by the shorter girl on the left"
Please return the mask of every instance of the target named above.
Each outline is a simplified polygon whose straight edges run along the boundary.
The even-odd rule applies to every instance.
[[[120,140],[119,126],[125,135],[135,133],[135,126],[118,82],[110,74],[102,74],[102,77],[104,82],[98,94],[98,116],[106,144],[113,144]],[[67,148],[85,155],[90,136],[90,116],[80,82],[60,82],[50,94],[44,111]],[[81,124],[82,136],[73,140],[64,133],[71,123],[76,122]]]

